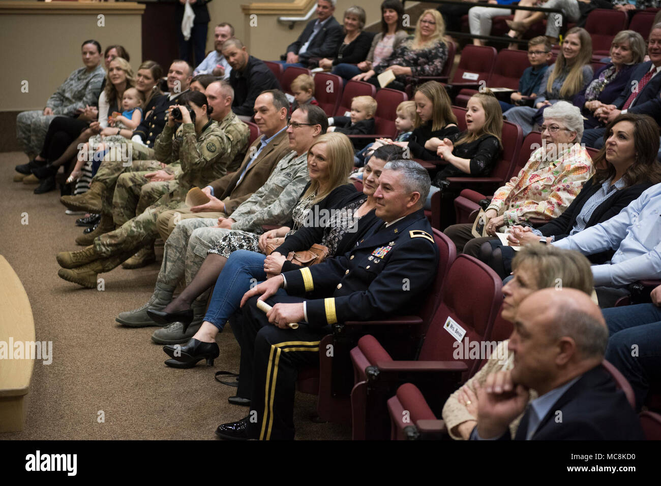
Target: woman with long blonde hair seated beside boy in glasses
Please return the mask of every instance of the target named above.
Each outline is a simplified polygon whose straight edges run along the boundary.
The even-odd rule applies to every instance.
[[[573,102],[574,97],[592,79],[592,39],[581,27],[567,30],[558,59],[546,70],[533,107],[515,106],[504,113],[506,120],[520,125],[524,136],[543,119],[543,110],[561,100]]]

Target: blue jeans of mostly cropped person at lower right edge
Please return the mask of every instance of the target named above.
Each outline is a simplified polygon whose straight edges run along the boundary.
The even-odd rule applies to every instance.
[[[661,382],[661,309],[637,304],[602,313],[611,335],[605,359],[627,378],[640,410],[650,383]]]

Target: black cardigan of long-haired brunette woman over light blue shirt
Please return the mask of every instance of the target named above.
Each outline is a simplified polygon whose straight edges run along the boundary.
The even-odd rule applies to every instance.
[[[601,187],[602,184],[595,182],[594,176],[592,176],[592,178],[584,184],[578,195],[574,197],[574,201],[572,201],[569,207],[564,210],[563,214],[538,228],[541,234],[544,236],[555,236],[555,241],[562,240],[569,236],[569,232],[576,224],[576,217],[580,214],[586,201],[588,201],[588,199],[590,199],[590,197],[592,197],[592,195],[594,195],[594,193],[596,193]],[[603,203],[598,205],[596,209],[592,211],[592,215],[590,215],[586,228],[590,228],[590,226],[598,225],[599,223],[611,219],[622,211],[622,209],[627,207],[631,201],[638,199],[642,191],[650,187],[652,187],[651,182],[639,182],[639,184],[634,184],[633,186],[615,191],[615,193],[611,194],[608,199],[603,201]],[[607,252],[591,255],[588,259],[592,261],[592,263],[600,264],[610,260],[612,256],[613,251],[609,250]]]

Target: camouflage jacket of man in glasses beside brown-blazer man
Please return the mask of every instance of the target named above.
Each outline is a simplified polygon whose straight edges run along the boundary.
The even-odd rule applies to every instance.
[[[261,234],[262,225],[282,225],[292,219],[292,211],[309,181],[307,152],[294,151],[276,165],[264,186],[256,190],[232,213],[233,230]]]

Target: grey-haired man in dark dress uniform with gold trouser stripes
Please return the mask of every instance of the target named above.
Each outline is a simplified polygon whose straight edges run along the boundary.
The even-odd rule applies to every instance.
[[[221,438],[293,439],[297,373],[303,366],[319,366],[319,343],[331,324],[405,314],[420,306],[438,263],[422,209],[430,183],[416,162],[388,162],[374,194],[375,213],[383,221],[365,238],[343,256],[276,275],[243,296],[244,322],[236,335],[242,363],[253,366],[242,366],[239,380],[252,385],[249,417],[256,420],[221,425],[216,431]],[[274,307],[264,314],[257,300]],[[288,323],[295,322],[301,325],[292,330]],[[274,366],[278,373],[271,376]]]

